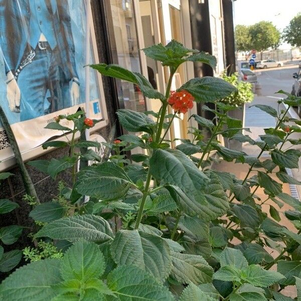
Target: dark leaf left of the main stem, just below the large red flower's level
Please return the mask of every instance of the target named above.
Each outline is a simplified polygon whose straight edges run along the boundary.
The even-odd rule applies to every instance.
[[[117,111],[118,120],[123,128],[131,132],[147,132],[152,134],[156,123],[143,113],[129,109]]]

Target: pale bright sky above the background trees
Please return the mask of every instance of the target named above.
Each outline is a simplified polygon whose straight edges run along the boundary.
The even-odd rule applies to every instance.
[[[259,21],[271,21],[283,30],[289,21],[301,13],[301,0],[236,0],[234,2],[235,25],[252,25]],[[287,44],[282,45],[285,48]]]

